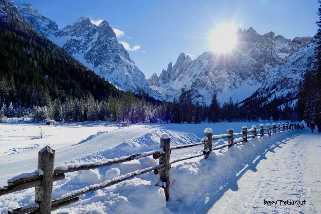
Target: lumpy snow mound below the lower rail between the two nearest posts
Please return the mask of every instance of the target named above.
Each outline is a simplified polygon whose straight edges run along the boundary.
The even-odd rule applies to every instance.
[[[170,213],[164,190],[140,178],[133,178],[92,193],[88,199],[52,213]]]

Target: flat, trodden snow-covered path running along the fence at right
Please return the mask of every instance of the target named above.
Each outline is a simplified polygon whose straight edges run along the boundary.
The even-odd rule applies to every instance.
[[[231,177],[198,213],[320,213],[321,135],[300,132],[276,143]],[[305,205],[264,205],[306,200]]]

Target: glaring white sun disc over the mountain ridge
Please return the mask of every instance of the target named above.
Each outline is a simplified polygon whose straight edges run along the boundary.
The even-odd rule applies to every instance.
[[[217,53],[232,50],[237,42],[236,30],[233,24],[217,26],[209,38],[211,49]]]

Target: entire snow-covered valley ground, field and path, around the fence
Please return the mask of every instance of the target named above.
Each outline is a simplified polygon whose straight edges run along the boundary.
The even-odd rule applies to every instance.
[[[260,123],[139,124],[122,128],[118,124],[0,124],[0,186],[15,175],[34,171],[38,151],[46,145],[56,151],[55,165],[74,164],[158,149],[163,133],[171,136],[171,145],[181,145],[200,142],[206,127],[217,135],[226,134],[230,127],[240,132],[242,126],[251,128],[253,124],[259,127]],[[39,138],[41,129],[43,139]],[[171,158],[196,154],[202,148],[173,150]],[[163,189],[155,186],[159,175],[151,172],[80,196],[79,202],[54,213],[319,213],[321,168],[316,160],[321,160],[320,134],[307,129],[275,133],[215,151],[207,159],[172,164],[167,202]],[[54,183],[53,197],[155,165],[158,160],[147,157],[66,173],[64,180]],[[306,204],[264,205],[264,200],[281,199],[306,200]],[[32,202],[34,188],[0,196],[0,212]]]

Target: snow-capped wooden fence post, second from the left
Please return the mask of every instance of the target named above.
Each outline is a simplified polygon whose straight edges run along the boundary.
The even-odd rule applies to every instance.
[[[163,182],[162,187],[167,201],[169,199],[170,137],[166,133],[160,136],[160,148],[165,151],[165,155],[160,157],[159,163],[164,164],[164,170],[160,172],[160,180]]]

